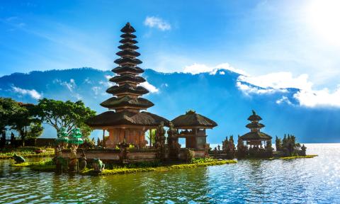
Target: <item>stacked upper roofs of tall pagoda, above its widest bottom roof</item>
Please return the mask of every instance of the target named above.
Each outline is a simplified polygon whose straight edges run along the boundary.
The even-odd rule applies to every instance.
[[[139,113],[140,110],[154,106],[154,103],[140,97],[149,93],[149,91],[139,86],[140,83],[146,80],[139,76],[144,70],[137,67],[138,64],[142,64],[142,61],[137,59],[140,56],[140,53],[136,51],[139,47],[135,45],[137,43],[137,40],[135,40],[136,35],[132,34],[136,30],[130,23],[126,23],[120,31],[123,32],[120,35],[123,39],[119,41],[122,45],[118,46],[120,51],[116,53],[120,58],[114,61],[118,64],[118,67],[112,69],[112,72],[117,75],[110,79],[116,85],[106,90],[108,94],[113,94],[113,97],[101,103],[101,106],[113,109],[116,112],[130,111]]]

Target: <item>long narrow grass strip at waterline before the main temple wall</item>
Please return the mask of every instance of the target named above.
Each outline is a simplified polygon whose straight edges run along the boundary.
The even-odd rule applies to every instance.
[[[173,169],[191,169],[200,166],[214,166],[214,165],[222,165],[222,164],[235,164],[237,161],[234,160],[222,160],[215,162],[204,162],[204,163],[196,163],[196,164],[173,164],[166,166],[156,166],[156,167],[144,167],[144,168],[127,168],[120,167],[115,169],[104,169],[100,173],[94,171],[94,169],[86,169],[81,171],[83,175],[98,175],[98,176],[108,176],[115,174],[133,174],[137,172],[149,172],[149,171],[170,171]]]

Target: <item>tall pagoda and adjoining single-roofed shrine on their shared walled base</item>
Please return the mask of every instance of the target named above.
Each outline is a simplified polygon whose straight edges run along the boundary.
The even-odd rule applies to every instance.
[[[216,127],[217,123],[195,111],[187,111],[171,121],[147,112],[154,103],[142,98],[149,91],[140,86],[146,80],[140,77],[144,70],[138,67],[142,62],[137,59],[140,53],[136,51],[139,47],[135,45],[135,28],[127,23],[121,31],[122,45],[116,53],[119,58],[114,61],[118,67],[112,69],[115,76],[110,79],[115,85],[106,90],[113,96],[101,103],[108,111],[86,121],[92,129],[103,131],[102,148],[77,151],[60,146],[57,157],[70,160],[86,157],[106,164],[186,162],[208,157],[210,148],[205,130]],[[154,132],[154,145],[151,141],[147,145],[146,132],[150,137]],[[185,138],[186,148],[181,148],[179,138]],[[60,160],[60,164],[63,162]]]

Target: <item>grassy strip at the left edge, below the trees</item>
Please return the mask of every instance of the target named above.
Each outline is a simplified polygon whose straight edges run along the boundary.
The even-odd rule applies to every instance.
[[[35,150],[45,150],[46,152],[37,154],[34,151]],[[1,149],[0,151],[0,159],[12,159],[13,155],[20,155],[24,158],[30,158],[30,157],[52,157],[55,152],[55,150],[52,148],[39,148],[39,147],[18,147],[18,148],[7,148],[7,149]]]

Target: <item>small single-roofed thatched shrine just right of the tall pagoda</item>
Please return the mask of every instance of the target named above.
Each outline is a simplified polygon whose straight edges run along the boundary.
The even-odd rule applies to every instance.
[[[215,121],[195,111],[187,111],[184,115],[171,120],[174,128],[180,130],[179,138],[186,139],[186,148],[204,150],[207,143],[205,130],[217,126]]]

